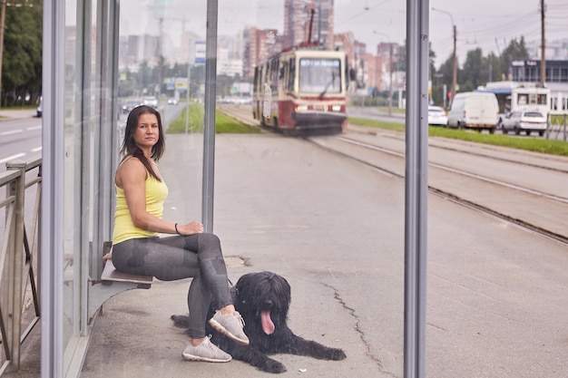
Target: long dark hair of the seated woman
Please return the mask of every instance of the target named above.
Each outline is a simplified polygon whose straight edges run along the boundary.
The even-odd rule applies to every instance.
[[[138,158],[138,160],[142,161],[146,170],[150,172],[154,179],[162,181],[156,174],[156,172],[152,168],[152,164],[150,161],[144,156],[140,147],[136,145],[134,142],[134,131],[138,128],[138,119],[142,114],[153,114],[158,119],[158,131],[159,131],[159,138],[158,142],[152,146],[152,153],[150,154],[150,158],[154,161],[159,161],[162,158],[163,151],[166,150],[166,141],[164,138],[163,128],[162,128],[162,117],[160,117],[160,112],[156,111],[152,106],[148,105],[140,105],[132,109],[130,114],[128,114],[128,119],[126,120],[126,129],[124,130],[124,140],[122,141],[121,153],[125,154],[122,160],[128,158],[129,156],[133,156]]]

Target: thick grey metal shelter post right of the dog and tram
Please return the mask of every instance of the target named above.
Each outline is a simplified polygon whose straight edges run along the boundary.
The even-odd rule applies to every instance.
[[[426,378],[428,11],[406,1],[405,378]]]

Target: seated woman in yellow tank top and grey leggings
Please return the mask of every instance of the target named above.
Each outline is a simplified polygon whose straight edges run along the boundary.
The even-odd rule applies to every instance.
[[[193,277],[188,293],[190,340],[182,356],[190,361],[228,362],[230,354],[211,344],[205,335],[210,305],[219,310],[209,323],[240,344],[249,344],[243,322],[230,296],[227,267],[220,240],[203,233],[203,225],[162,219],[168,187],[156,162],[165,150],[160,113],[141,105],[128,115],[121,153],[125,154],[114,177],[113,258],[117,270],[163,281]],[[177,234],[159,237],[159,234]]]

